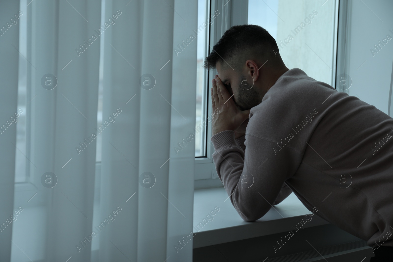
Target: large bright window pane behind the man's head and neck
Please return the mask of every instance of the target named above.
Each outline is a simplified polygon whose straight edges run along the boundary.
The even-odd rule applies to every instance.
[[[248,24],[266,29],[289,69],[332,84],[335,1],[249,0]]]

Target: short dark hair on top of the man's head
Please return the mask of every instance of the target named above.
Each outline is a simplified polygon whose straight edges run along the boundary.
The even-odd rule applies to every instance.
[[[204,61],[203,68],[215,68],[216,63],[220,62],[223,67],[232,64],[239,71],[244,57],[255,52],[263,56],[278,53],[278,46],[272,35],[257,25],[232,26],[214,45]]]

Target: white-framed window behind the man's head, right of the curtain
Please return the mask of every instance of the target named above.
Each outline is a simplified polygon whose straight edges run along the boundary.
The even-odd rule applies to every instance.
[[[201,19],[206,21],[215,11],[220,14],[208,25],[205,34],[198,35],[196,126],[211,113],[210,92],[206,90],[210,89],[212,77],[217,73],[217,70],[202,70],[200,59],[236,24],[262,26],[276,40],[288,68],[300,68],[317,81],[335,86],[338,0],[198,1],[198,26],[203,23]],[[222,183],[217,179],[211,158],[214,152],[210,142],[211,125],[203,132],[195,145],[195,189],[220,187]]]

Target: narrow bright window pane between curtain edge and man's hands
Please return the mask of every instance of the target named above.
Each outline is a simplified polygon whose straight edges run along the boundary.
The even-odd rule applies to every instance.
[[[206,154],[206,77],[207,71],[202,68],[206,54],[206,39],[209,31],[207,22],[209,0],[198,0],[197,62],[196,62],[196,123],[195,123],[195,156]],[[204,24],[207,26],[205,28]]]

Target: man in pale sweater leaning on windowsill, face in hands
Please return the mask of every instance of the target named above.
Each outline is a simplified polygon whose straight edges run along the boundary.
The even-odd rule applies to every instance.
[[[204,68],[219,73],[213,160],[242,219],[261,218],[293,191],[310,211],[367,240],[371,261],[393,261],[393,119],[289,70],[260,26],[228,29]]]

